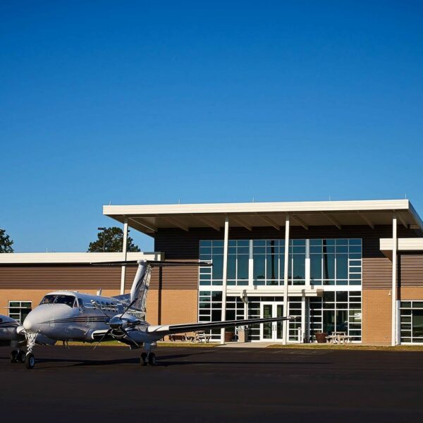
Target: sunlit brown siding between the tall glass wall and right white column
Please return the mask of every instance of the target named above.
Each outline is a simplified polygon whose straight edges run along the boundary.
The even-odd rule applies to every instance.
[[[362,286],[365,289],[392,288],[392,262],[387,257],[363,258]]]

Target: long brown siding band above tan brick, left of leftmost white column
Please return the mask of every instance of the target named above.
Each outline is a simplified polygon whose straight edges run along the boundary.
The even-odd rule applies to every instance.
[[[1,266],[0,288],[81,290],[118,289],[120,267]]]

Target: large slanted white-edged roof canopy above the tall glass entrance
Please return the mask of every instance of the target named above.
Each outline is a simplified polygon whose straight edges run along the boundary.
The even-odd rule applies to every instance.
[[[273,226],[281,229],[286,217],[290,226],[391,225],[395,214],[406,228],[422,229],[423,222],[409,200],[250,202],[217,204],[154,204],[103,206],[103,214],[116,221],[128,221],[142,233],[161,228],[214,228],[220,231],[229,216],[231,227]]]

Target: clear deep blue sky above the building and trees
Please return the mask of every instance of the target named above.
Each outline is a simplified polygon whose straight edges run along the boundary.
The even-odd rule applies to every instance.
[[[85,251],[109,202],[407,195],[423,214],[421,1],[0,15],[0,228],[17,252]]]

